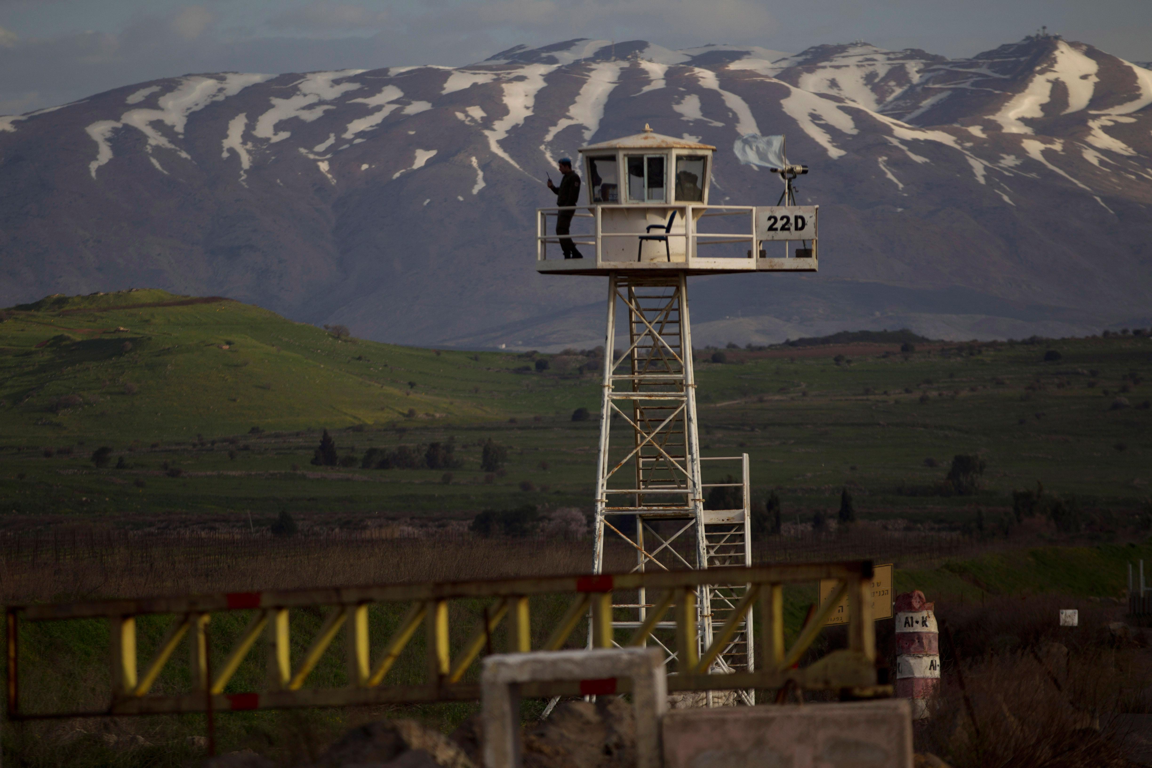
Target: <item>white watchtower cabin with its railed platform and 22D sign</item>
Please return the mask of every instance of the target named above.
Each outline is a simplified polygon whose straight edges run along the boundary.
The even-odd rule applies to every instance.
[[[816,272],[819,206],[711,205],[715,147],[653,132],[579,150],[586,205],[537,211],[543,274]],[[554,234],[574,214],[564,259]],[[755,257],[755,258],[753,258]]]

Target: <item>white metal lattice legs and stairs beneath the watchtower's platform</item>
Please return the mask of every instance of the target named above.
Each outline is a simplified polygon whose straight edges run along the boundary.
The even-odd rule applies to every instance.
[[[600,451],[596,484],[593,571],[604,570],[605,538],[636,552],[634,571],[705,569],[751,563],[748,456],[738,481],[705,484],[700,472],[692,371],[688,282],[683,273],[608,277],[600,405]],[[623,312],[620,312],[620,309]],[[629,347],[615,355],[617,320],[627,322]],[[615,426],[615,429],[613,428]],[[705,491],[740,488],[735,509],[705,510]],[[746,585],[702,587],[697,595],[700,651],[744,594]],[[641,590],[614,606],[617,629],[639,626],[658,595]],[[719,670],[752,671],[751,615],[718,657]],[[670,621],[651,638],[673,657]],[[753,704],[751,691],[741,691]],[[711,694],[708,694],[711,702]]]

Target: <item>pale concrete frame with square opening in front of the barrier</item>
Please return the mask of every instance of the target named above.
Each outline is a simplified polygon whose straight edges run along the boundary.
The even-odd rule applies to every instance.
[[[658,648],[538,651],[487,656],[480,672],[485,768],[520,768],[520,684],[579,680],[581,687],[589,692],[612,693],[617,677],[632,680],[636,766],[660,768],[660,717],[668,707],[668,686],[664,655]]]

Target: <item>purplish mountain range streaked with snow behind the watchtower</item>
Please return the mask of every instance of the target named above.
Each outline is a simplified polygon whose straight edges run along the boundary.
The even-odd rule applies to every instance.
[[[713,203],[773,204],[785,134],[818,275],[699,279],[696,335],[945,337],[1152,322],[1152,71],[1036,36],[971,59],[645,41],[477,64],[209,74],[0,117],[0,304],[227,295],[423,344],[591,344],[601,280],[533,269],[554,159],[637,132],[718,147]]]

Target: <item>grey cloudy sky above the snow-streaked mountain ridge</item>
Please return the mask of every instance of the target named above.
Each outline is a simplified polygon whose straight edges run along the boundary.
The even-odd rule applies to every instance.
[[[1041,24],[1152,61],[1152,0],[0,0],[0,114],[188,73],[460,66],[574,37],[967,56]]]

